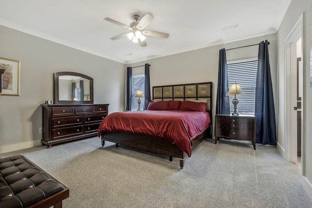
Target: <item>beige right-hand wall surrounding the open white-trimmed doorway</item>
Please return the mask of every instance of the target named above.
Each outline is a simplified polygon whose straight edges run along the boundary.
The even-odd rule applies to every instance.
[[[303,103],[302,103],[302,183],[310,197],[312,197],[312,88],[310,88],[310,8],[312,0],[292,0],[287,13],[278,29],[278,110],[279,125],[278,133],[281,148],[286,148],[286,117],[285,117],[285,100],[288,93],[285,91],[285,41],[292,32],[292,28],[303,15]],[[311,147],[311,148],[310,148]]]

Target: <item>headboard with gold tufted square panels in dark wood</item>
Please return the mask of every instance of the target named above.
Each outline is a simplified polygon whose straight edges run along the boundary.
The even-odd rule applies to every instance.
[[[164,86],[153,86],[153,99],[155,101],[191,101],[207,100],[206,111],[213,122],[213,83],[191,83]]]

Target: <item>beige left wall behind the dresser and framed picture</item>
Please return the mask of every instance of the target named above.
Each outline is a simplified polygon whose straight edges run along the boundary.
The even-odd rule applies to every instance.
[[[0,153],[40,145],[42,109],[53,100],[53,73],[94,79],[94,103],[124,107],[124,64],[0,26],[0,57],[21,62],[20,96],[0,96]],[[99,141],[100,142],[100,141]]]

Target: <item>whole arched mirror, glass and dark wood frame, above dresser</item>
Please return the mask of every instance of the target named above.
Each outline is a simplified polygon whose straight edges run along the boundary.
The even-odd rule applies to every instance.
[[[54,104],[93,104],[93,79],[76,72],[54,73]]]

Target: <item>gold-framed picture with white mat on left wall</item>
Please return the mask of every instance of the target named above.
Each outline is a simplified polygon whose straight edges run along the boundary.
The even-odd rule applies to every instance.
[[[20,61],[0,57],[2,91],[0,95],[20,96]]]

